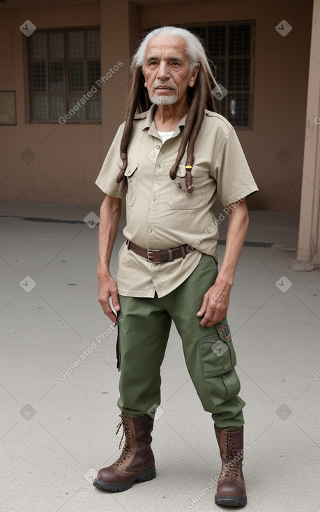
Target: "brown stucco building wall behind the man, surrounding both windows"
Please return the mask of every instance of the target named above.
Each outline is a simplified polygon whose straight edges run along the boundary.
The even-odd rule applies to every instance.
[[[159,0],[160,1],[160,0]],[[310,54],[312,2],[292,0],[213,0],[134,6],[128,0],[101,0],[91,6],[2,11],[0,90],[16,90],[17,126],[1,126],[0,198],[28,201],[99,203],[94,185],[116,128],[123,121],[132,47],[144,29],[161,24],[227,20],[256,22],[254,119],[238,137],[260,192],[251,209],[298,211],[305,139],[305,109]],[[102,74],[121,60],[124,66],[102,86],[102,125],[26,123],[24,38],[19,27],[31,20],[38,28],[101,25]],[[121,22],[120,22],[121,20]],[[275,26],[287,20],[286,37]],[[20,154],[36,155],[26,163]],[[285,149],[283,163],[277,153]]]

